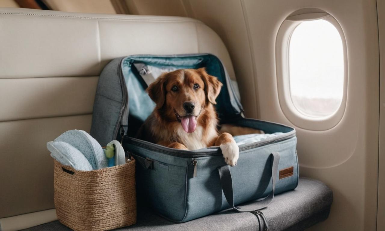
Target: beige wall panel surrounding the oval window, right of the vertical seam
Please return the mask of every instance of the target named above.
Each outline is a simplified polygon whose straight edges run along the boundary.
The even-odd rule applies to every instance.
[[[347,48],[347,98],[336,126],[324,131],[293,124],[281,109],[276,75],[276,35],[301,8],[318,8],[340,24]],[[333,190],[330,217],[311,230],[376,230],[378,161],[378,36],[376,2],[245,2],[258,79],[261,119],[291,124],[297,131],[300,176]],[[354,221],[354,222],[352,222]]]

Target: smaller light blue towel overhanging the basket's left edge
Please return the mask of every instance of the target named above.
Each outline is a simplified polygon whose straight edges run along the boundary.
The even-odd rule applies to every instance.
[[[52,158],[63,165],[68,165],[81,171],[92,170],[90,162],[85,158],[82,152],[66,142],[50,141],[47,143],[47,149],[51,152]]]

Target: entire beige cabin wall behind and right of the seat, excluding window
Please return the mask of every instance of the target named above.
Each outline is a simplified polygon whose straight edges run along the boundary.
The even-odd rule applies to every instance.
[[[168,0],[164,7],[152,7],[151,0],[126,2],[132,13],[162,15],[173,8],[178,9],[175,15],[206,23],[229,50],[246,116],[296,128],[300,176],[325,182],[334,195],[329,218],[310,230],[376,230],[380,67],[375,0]],[[320,125],[318,131],[290,121],[278,97],[277,34],[291,13],[304,8],[329,13],[346,40],[345,110],[335,126],[323,129]],[[383,7],[380,10],[385,13]],[[381,164],[385,162],[380,162],[384,167]],[[385,204],[385,198],[380,199]]]

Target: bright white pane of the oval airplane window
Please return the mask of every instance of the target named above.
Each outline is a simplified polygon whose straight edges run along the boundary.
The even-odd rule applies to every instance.
[[[328,21],[301,22],[289,44],[291,100],[311,117],[333,114],[343,95],[344,63],[341,36]]]

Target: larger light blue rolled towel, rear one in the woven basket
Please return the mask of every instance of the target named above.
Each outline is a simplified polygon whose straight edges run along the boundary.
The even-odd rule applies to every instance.
[[[92,169],[108,166],[102,146],[90,134],[82,130],[70,130],[61,134],[55,141],[67,142],[82,152],[90,162]]]

